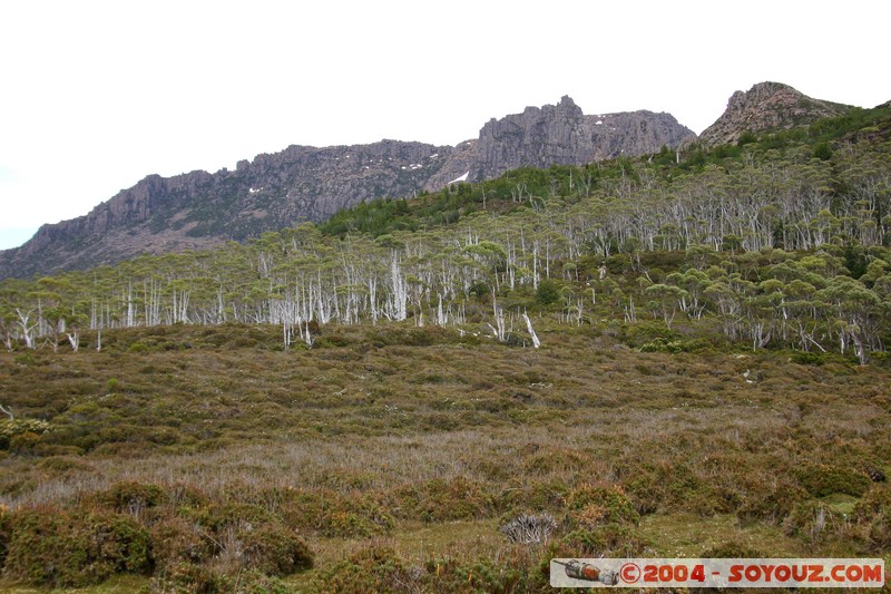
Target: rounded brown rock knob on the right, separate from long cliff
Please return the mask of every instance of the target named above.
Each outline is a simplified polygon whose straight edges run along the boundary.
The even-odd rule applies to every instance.
[[[806,126],[820,118],[844,114],[851,106],[813,99],[781,82],[758,82],[747,92],[734,92],[727,109],[699,135],[703,146],[735,144],[743,132],[766,132]]]

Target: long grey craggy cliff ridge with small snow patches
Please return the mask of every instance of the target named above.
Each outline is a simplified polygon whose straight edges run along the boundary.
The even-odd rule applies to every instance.
[[[0,277],[45,274],[243,241],[381,196],[411,196],[464,177],[480,181],[520,167],[585,164],[657,152],[695,135],[667,114],[586,116],[564,97],[491,119],[456,147],[382,140],[316,148],[291,146],[242,160],[234,172],[149,175],[89,214],[43,225],[28,243],[0,252]]]

